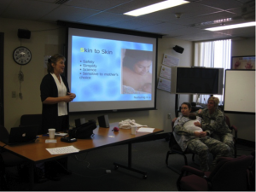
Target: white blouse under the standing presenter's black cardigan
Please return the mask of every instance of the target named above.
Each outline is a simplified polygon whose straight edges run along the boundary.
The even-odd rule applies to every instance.
[[[60,75],[60,79],[61,79],[61,83],[60,83],[60,81],[56,77],[55,73],[50,73],[50,74],[55,79],[55,83],[56,83],[57,89],[58,89],[58,96],[67,96],[67,87],[65,86],[65,84],[62,81],[61,75]],[[66,102],[58,102],[58,116],[63,116],[63,115],[67,115],[67,103]]]

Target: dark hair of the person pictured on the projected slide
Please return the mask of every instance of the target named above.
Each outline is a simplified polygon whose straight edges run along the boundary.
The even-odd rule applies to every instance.
[[[133,70],[133,67],[139,61],[152,61],[152,51],[126,49],[123,59],[123,66]]]

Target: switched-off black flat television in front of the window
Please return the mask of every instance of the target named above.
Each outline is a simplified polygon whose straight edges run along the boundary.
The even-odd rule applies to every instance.
[[[224,68],[172,67],[171,93],[222,95]]]

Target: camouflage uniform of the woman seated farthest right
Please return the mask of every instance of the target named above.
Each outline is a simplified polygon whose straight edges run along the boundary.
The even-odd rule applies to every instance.
[[[234,140],[232,131],[226,124],[224,113],[216,109],[214,113],[210,114],[207,108],[203,109],[201,113],[196,112],[202,118],[201,125],[204,131],[211,131],[212,138],[217,139],[230,147],[229,156],[232,157],[234,153]]]

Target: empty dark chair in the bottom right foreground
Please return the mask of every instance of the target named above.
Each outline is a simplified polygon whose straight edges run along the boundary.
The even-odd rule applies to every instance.
[[[191,166],[183,166],[182,173],[177,179],[177,189],[179,192],[248,191],[247,167],[252,160],[252,155],[238,158],[221,157],[212,172],[202,172]]]

